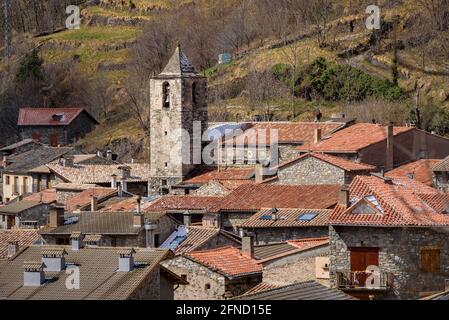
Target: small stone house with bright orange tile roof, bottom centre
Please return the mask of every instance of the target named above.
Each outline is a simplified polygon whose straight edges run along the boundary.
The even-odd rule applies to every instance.
[[[163,265],[189,284],[175,291],[176,300],[222,300],[241,295],[262,282],[262,266],[243,249],[222,247],[185,253]]]

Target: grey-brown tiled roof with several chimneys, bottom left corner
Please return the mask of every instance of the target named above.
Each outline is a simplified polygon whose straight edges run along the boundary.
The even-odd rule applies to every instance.
[[[3,262],[0,272],[0,299],[19,300],[123,300],[130,297],[140,283],[159,263],[172,256],[168,250],[135,249],[134,260],[140,264],[131,272],[117,272],[117,248],[65,248],[67,265],[79,268],[80,289],[68,290],[66,270],[46,272],[47,280],[41,287],[23,286],[25,261],[41,261],[41,246],[30,246],[11,261]]]

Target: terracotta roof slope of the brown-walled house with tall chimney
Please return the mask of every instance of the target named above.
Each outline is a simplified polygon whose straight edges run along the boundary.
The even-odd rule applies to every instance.
[[[394,127],[394,135],[414,130],[412,127]],[[358,123],[334,133],[318,143],[302,145],[300,151],[355,153],[386,139],[386,127],[371,123]]]

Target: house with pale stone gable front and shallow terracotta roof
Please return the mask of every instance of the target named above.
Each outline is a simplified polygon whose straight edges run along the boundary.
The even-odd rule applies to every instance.
[[[369,175],[376,167],[356,163],[321,153],[306,153],[277,168],[277,179],[272,183],[299,184],[349,184],[356,175]]]

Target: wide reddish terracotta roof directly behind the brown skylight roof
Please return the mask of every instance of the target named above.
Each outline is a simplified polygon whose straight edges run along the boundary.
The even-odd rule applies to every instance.
[[[220,210],[255,211],[262,208],[328,209],[338,201],[339,185],[243,185],[217,202]]]

